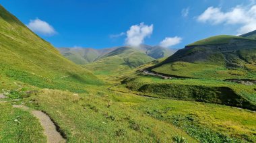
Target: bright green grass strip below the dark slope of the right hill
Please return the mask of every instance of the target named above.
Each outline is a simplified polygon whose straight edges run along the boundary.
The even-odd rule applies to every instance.
[[[157,73],[197,79],[253,79],[256,77],[255,73],[245,68],[230,69],[222,65],[205,63],[172,62],[152,70]]]

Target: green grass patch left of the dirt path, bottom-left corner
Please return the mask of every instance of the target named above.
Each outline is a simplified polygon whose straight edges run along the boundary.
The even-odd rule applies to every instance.
[[[0,102],[0,142],[46,142],[42,127],[27,111]]]

